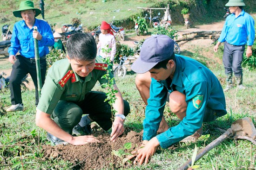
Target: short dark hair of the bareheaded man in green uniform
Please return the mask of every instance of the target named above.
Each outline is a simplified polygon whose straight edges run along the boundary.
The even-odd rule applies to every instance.
[[[67,40],[67,55],[78,61],[96,58],[97,46],[94,37],[89,33],[75,33]]]

